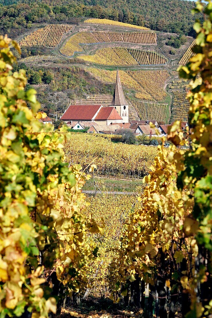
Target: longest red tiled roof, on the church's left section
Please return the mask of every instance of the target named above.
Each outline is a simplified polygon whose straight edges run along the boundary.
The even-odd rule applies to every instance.
[[[101,105],[70,105],[61,120],[92,120]]]

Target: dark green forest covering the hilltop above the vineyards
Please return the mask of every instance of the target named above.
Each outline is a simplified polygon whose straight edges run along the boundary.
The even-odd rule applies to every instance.
[[[18,1],[1,0],[0,30],[19,34],[23,28],[30,28],[33,22],[72,22],[73,18],[94,17],[109,18],[124,23],[148,27],[152,30],[173,32],[194,36],[193,24],[196,18],[202,20],[199,13],[194,16],[193,1],[159,0],[156,2],[139,0],[134,6],[132,0],[114,1]],[[74,20],[76,21],[76,20]]]

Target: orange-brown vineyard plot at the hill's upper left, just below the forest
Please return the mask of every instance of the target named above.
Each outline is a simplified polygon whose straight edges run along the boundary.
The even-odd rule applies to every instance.
[[[44,28],[34,31],[20,41],[20,46],[50,46],[59,45],[62,36],[70,31],[69,24],[49,24]]]

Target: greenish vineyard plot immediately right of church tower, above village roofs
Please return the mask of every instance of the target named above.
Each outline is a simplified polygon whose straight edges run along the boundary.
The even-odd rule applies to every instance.
[[[157,119],[165,122],[168,103],[144,102],[130,99],[141,120]]]

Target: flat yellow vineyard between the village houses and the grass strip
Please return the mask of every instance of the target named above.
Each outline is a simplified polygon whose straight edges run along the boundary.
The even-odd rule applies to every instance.
[[[85,169],[89,162],[97,166],[98,175],[144,176],[150,171],[157,148],[114,144],[102,136],[73,134],[64,145],[65,161],[81,164]]]

